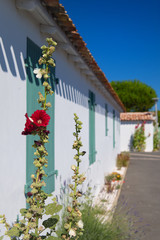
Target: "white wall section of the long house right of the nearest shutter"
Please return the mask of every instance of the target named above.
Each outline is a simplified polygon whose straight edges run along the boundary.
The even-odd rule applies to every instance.
[[[120,125],[119,121],[117,122],[119,113],[116,111],[116,147],[113,149],[113,107],[111,104],[108,104],[109,131],[108,136],[105,136],[105,103],[107,103],[107,100],[91,85],[89,80],[68,59],[64,52],[58,49],[55,56],[56,75],[59,78],[55,98],[55,168],[59,172],[56,181],[56,191],[60,189],[59,184],[63,185],[63,182],[68,180],[72,173],[70,166],[74,163],[74,151],[70,151],[70,149],[74,140],[72,135],[74,131],[74,113],[77,113],[83,122],[82,142],[84,145],[83,149],[87,152],[83,157],[81,170],[85,172],[87,182],[92,187],[96,187],[98,191],[104,182],[104,175],[115,166],[115,159],[120,151]],[[63,71],[61,66],[63,66]],[[96,95],[95,139],[97,154],[96,162],[92,165],[89,165],[89,90]],[[61,146],[63,146],[63,150]]]

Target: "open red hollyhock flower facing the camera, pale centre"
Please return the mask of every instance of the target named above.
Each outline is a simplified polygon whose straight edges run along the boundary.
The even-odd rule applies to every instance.
[[[31,119],[37,127],[46,127],[50,116],[44,110],[37,110],[32,114]]]

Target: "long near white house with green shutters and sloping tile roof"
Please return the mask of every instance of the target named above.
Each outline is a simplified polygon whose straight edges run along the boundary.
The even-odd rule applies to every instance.
[[[14,221],[26,205],[34,171],[33,137],[21,132],[25,113],[30,116],[38,108],[41,81],[33,69],[46,37],[58,43],[51,76],[48,192],[58,195],[71,176],[74,113],[83,122],[87,152],[80,170],[86,186],[98,192],[120,152],[120,112],[125,109],[58,1],[1,1],[0,18],[0,213]]]

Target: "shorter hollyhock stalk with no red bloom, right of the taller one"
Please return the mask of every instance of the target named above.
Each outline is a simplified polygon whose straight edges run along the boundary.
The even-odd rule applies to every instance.
[[[70,239],[79,239],[80,236],[83,235],[83,222],[82,222],[82,213],[80,211],[81,203],[79,200],[82,197],[82,192],[78,190],[78,186],[82,185],[85,181],[84,174],[80,174],[80,162],[81,156],[85,155],[85,151],[80,151],[80,148],[83,146],[81,142],[81,137],[79,133],[82,128],[82,122],[79,121],[79,117],[74,114],[74,121],[75,121],[75,132],[73,136],[75,137],[75,141],[73,143],[72,148],[76,150],[76,154],[74,159],[76,160],[76,165],[72,165],[71,169],[73,171],[73,183],[69,184],[71,189],[70,197],[72,198],[72,203],[68,206],[67,211],[68,214],[65,219],[64,228],[65,231],[62,233],[63,239],[70,240]]]

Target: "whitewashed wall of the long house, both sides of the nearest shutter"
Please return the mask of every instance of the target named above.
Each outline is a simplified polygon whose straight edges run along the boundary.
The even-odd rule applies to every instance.
[[[15,1],[5,0],[0,7],[0,214],[5,213],[14,221],[19,209],[25,207],[24,185],[26,183],[26,137],[24,129],[26,113],[26,39],[29,37],[39,46],[46,36],[39,31],[39,24],[27,13],[16,9]],[[107,99],[91,85],[78,67],[61,49],[55,53],[56,75],[59,78],[55,93],[55,194],[59,194],[64,181],[69,181],[74,151],[73,114],[83,122],[82,142],[87,154],[83,157],[81,171],[87,183],[100,189],[104,175],[115,166],[120,152],[119,109],[116,111],[116,146],[113,149],[113,106],[108,103],[108,136],[105,136],[105,103]],[[89,109],[88,90],[96,94],[96,162],[89,166]]]

